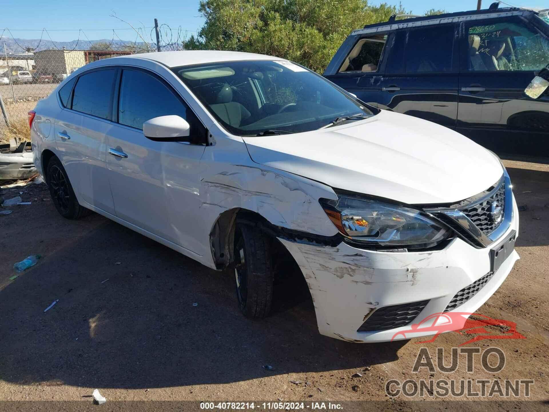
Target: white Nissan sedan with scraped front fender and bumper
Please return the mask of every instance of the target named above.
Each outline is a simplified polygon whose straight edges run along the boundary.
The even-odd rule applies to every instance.
[[[467,316],[519,258],[517,206],[495,154],[288,60],[100,60],[29,121],[62,216],[93,210],[234,269],[251,318],[269,313],[275,250],[301,269],[320,333],[350,342],[389,341],[435,313]]]

